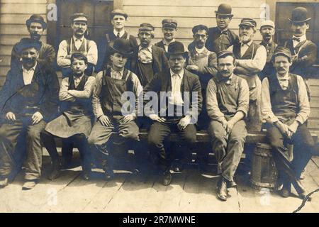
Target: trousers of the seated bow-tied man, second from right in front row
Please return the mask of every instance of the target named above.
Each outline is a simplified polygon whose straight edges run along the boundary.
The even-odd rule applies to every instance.
[[[230,134],[226,133],[220,122],[211,121],[208,133],[211,135],[213,152],[218,162],[218,173],[232,182],[247,136],[245,121],[235,123]]]

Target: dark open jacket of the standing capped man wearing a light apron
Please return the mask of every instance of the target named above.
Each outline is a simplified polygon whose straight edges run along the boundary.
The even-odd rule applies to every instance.
[[[162,72],[169,68],[168,60],[165,55],[165,50],[152,45],[153,70],[154,74]],[[136,74],[138,66],[138,47],[135,48],[133,56],[130,60],[130,71]]]

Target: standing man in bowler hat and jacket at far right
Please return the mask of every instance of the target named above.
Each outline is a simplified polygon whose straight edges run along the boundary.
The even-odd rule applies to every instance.
[[[313,71],[312,65],[317,60],[317,45],[306,37],[307,29],[309,28],[310,17],[308,17],[306,8],[297,7],[291,13],[291,29],[293,37],[284,43],[286,48],[289,48],[292,55],[292,65],[290,72],[298,74],[306,80],[308,96],[310,95],[308,78]],[[310,98],[310,96],[308,97]]]

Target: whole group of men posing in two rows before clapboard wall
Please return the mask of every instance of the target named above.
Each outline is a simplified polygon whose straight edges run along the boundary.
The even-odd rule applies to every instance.
[[[125,31],[128,14],[116,9],[111,13],[113,31],[96,45],[86,37],[88,17],[75,13],[73,35],[60,43],[57,57],[52,46],[40,41],[47,24],[41,16],[31,16],[26,21],[30,38],[14,46],[0,94],[0,187],[13,181],[23,161],[23,189],[35,187],[41,175],[42,145],[52,158],[50,179],[59,177],[61,167],[69,164],[73,146],[79,149],[84,179],[90,177],[92,162],[111,179],[115,153],[139,143],[139,128],[149,130],[151,160],[162,184],[169,185],[176,151],[168,149],[166,138],[179,133],[182,150],[189,151],[196,143],[196,131],[207,129],[218,161],[217,194],[225,201],[227,188],[236,185],[234,175],[247,131],[264,128],[279,168],[281,195],[290,196],[293,184],[304,198],[300,176],[315,152],[306,127],[310,97],[305,80],[317,57],[317,47],[306,38],[307,13],[301,7],[292,11],[293,38],[284,45],[274,43],[272,21],[262,22],[263,40],[256,43],[256,21],[243,18],[238,36],[228,28],[231,6],[220,4],[217,26],[194,26],[188,50],[175,40],[174,19],[162,21],[164,38],[155,45],[155,28],[142,23],[138,44]],[[61,84],[52,67],[55,60],[62,71]],[[133,94],[135,104],[127,111],[125,92]],[[147,106],[150,100],[153,105]],[[142,114],[140,103],[145,106]],[[63,161],[55,137],[62,138]],[[286,148],[291,142],[293,153]],[[138,146],[133,150],[140,152]],[[183,169],[182,163],[177,171]]]

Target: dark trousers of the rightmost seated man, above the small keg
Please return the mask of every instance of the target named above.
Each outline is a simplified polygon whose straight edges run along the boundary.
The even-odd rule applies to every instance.
[[[276,126],[267,127],[267,138],[269,138],[269,142],[272,145],[276,167],[279,170],[284,186],[290,187],[291,183],[295,185],[301,172],[315,152],[315,143],[306,124],[299,126],[291,138],[293,160],[289,160],[291,155],[289,155],[289,150],[285,146],[287,138],[281,134]]]

